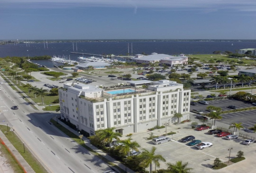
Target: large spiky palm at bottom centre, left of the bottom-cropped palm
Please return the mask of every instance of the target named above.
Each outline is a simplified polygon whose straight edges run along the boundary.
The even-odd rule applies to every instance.
[[[149,173],[152,171],[152,162],[155,163],[156,167],[160,167],[159,161],[166,162],[164,157],[160,154],[155,154],[156,147],[152,147],[151,150],[147,150],[146,148],[141,149],[142,152],[139,157],[143,160],[141,162],[142,167],[150,166]]]

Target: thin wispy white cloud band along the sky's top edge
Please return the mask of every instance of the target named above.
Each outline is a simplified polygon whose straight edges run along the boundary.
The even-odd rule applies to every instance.
[[[0,6],[10,8],[122,7],[134,8],[136,14],[139,8],[256,11],[256,0],[1,0]]]

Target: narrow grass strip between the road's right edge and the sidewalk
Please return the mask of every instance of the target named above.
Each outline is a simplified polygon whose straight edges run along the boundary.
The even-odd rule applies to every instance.
[[[87,149],[88,151],[90,151],[92,154],[96,155],[97,157],[99,157],[102,161],[106,162],[108,165],[115,167],[116,169],[118,169],[119,171],[123,172],[124,170],[122,170],[121,168],[119,168],[117,165],[113,164],[112,162],[110,162],[108,159],[106,159],[105,157],[103,157],[101,154],[97,153],[96,151],[92,150],[90,147],[86,146],[84,144],[84,141],[80,141],[79,137],[70,132],[68,129],[66,129],[65,127],[63,127],[61,124],[57,124],[57,122],[53,119],[50,120],[50,122],[57,127],[59,130],[61,130],[63,133],[65,133],[67,136],[69,136],[71,139],[73,139],[75,142],[77,142],[79,145],[83,146],[85,149]]]

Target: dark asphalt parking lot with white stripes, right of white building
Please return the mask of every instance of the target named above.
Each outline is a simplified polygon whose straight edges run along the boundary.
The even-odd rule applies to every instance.
[[[208,105],[197,103],[197,105],[191,106],[190,110],[200,109],[204,113],[209,113],[208,111],[206,111],[206,107],[209,105],[212,105],[212,106],[222,108],[222,111],[230,111],[232,109],[227,107],[232,104],[238,108],[254,107],[254,105],[245,101],[240,101],[235,99],[222,99],[222,100],[209,101]],[[218,120],[218,122],[222,122],[224,124],[229,124],[229,125],[231,125],[231,123],[243,123],[244,127],[250,127],[256,124],[255,114],[256,114],[256,110],[225,113],[221,115],[222,120]],[[194,117],[195,116],[198,116],[198,114],[195,114]]]

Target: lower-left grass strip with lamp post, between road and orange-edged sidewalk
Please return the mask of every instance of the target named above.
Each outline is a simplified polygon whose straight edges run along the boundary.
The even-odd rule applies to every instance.
[[[20,141],[19,137],[17,137],[17,135],[14,132],[12,133],[10,131],[5,132],[7,130],[7,126],[5,125],[0,125],[0,129],[5,134],[7,139],[11,142],[11,144],[16,148],[16,150],[20,153],[20,155],[26,160],[26,162],[32,167],[32,169],[36,173],[47,173],[45,168],[41,165],[41,163],[37,160],[37,158],[34,157],[34,155],[28,150],[26,146],[25,146],[25,153],[24,153],[23,142]]]

